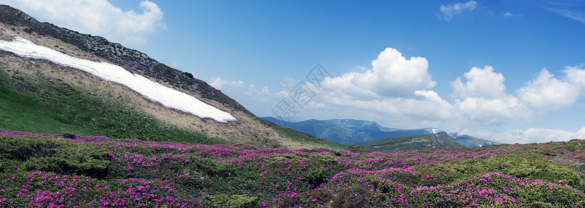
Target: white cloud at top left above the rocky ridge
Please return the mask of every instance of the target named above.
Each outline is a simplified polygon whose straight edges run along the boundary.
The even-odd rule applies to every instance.
[[[162,22],[162,10],[151,1],[141,1],[142,13],[122,11],[106,0],[2,0],[3,4],[23,10],[40,21],[80,33],[100,35],[112,42],[144,44]]]

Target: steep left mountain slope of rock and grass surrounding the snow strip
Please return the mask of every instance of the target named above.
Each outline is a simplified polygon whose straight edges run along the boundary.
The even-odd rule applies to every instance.
[[[0,89],[0,102],[5,103],[1,106],[0,128],[160,141],[178,138],[191,141],[189,137],[201,137],[208,140],[207,143],[348,148],[314,137],[285,134],[259,121],[245,107],[190,73],[168,67],[144,53],[108,42],[103,37],[40,23],[15,8],[0,6],[0,40],[6,44],[16,37],[72,58],[117,65],[136,76],[193,96],[229,113],[237,121],[221,123],[200,118],[165,107],[125,85],[76,67],[0,51],[4,84]],[[176,134],[171,136],[173,133],[169,130]]]

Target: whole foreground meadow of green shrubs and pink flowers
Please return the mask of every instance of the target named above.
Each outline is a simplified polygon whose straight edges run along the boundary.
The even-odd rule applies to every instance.
[[[585,141],[397,153],[0,131],[0,207],[583,207]]]

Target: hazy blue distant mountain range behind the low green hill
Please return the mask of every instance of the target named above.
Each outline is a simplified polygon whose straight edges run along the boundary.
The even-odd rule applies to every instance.
[[[355,119],[310,119],[298,122],[282,121],[274,117],[262,117],[262,119],[285,126],[287,128],[298,130],[299,132],[305,132],[321,139],[345,145],[362,144],[368,141],[377,141],[380,139],[400,137],[405,135],[425,135],[441,132],[441,130],[436,128],[421,128],[412,130],[387,128],[376,123],[375,121],[362,121]],[[459,144],[462,148],[474,148],[499,144],[495,141],[471,137],[469,135],[459,135],[457,133],[452,133],[450,135],[452,136],[452,139],[455,139],[455,142],[457,142],[457,144]]]

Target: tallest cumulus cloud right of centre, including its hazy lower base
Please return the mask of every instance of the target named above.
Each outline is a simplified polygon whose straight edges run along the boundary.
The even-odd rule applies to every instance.
[[[425,58],[407,59],[387,48],[372,61],[371,69],[359,67],[326,78],[319,96],[326,105],[340,107],[344,116],[368,115],[381,122],[417,124],[450,119],[452,105],[429,90],[436,82],[427,70]]]

